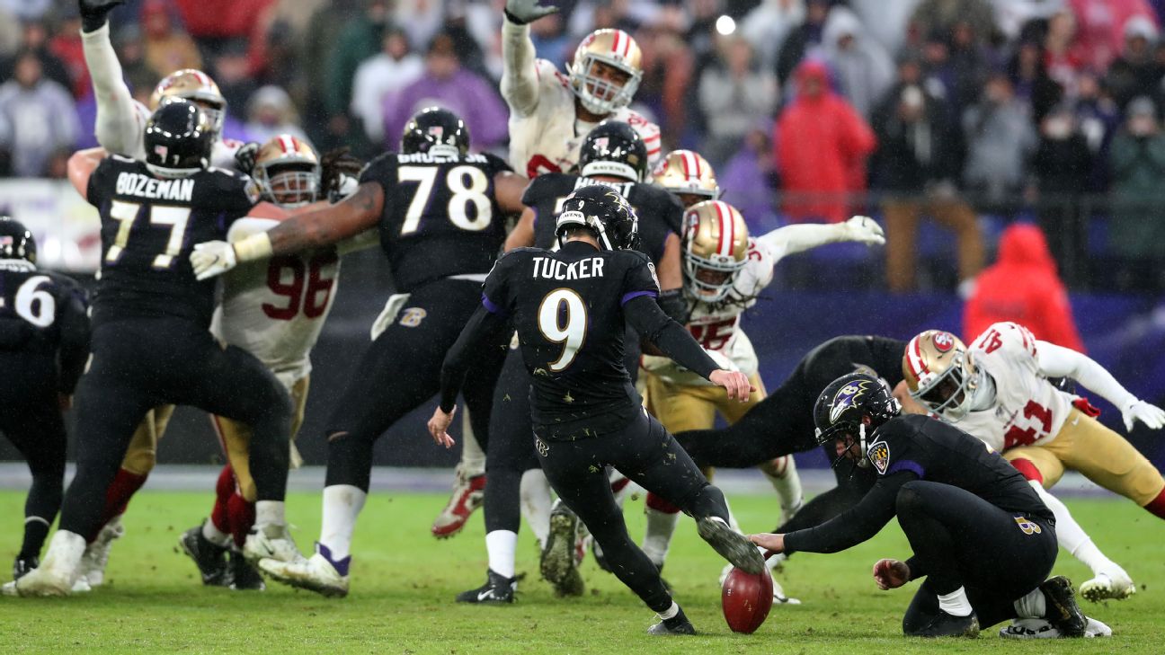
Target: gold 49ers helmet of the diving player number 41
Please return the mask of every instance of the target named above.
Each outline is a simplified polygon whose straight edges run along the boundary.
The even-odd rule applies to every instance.
[[[927,330],[906,344],[902,375],[910,395],[931,411],[959,421],[970,411],[979,367],[967,346],[951,332]]]

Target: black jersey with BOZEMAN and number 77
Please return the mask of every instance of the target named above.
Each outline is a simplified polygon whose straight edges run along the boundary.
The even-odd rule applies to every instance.
[[[89,178],[89,203],[101,214],[101,269],[93,322],[175,316],[210,326],[214,281],[195,280],[195,244],[226,238],[259,202],[240,172],[207,168],[167,178],[143,163],[106,157]]]

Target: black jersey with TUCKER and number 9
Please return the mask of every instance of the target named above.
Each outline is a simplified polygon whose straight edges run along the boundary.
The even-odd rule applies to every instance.
[[[483,302],[517,330],[536,435],[602,435],[641,410],[623,366],[623,304],[658,293],[654,266],[635,251],[569,242],[558,252],[518,248],[497,261]]]

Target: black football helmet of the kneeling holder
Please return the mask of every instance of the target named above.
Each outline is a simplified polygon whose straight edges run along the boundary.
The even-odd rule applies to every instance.
[[[902,404],[881,379],[867,373],[847,373],[829,382],[813,406],[817,443],[853,436],[866,457],[866,436],[902,414]],[[867,423],[864,418],[869,418]],[[834,466],[841,462],[839,457]]]

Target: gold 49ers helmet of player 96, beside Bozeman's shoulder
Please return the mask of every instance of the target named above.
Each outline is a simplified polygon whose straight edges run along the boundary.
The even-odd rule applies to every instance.
[[[259,147],[252,176],[263,199],[282,207],[299,207],[319,199],[319,156],[311,146],[277,134]]]

